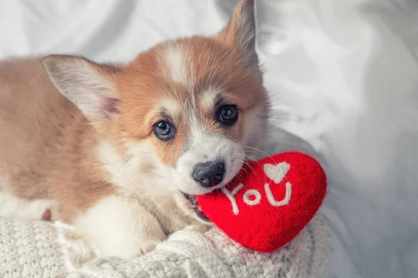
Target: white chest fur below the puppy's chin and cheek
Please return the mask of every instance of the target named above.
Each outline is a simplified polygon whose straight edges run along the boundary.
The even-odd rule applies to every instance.
[[[167,171],[164,176],[155,169],[155,158],[146,145],[129,145],[127,157],[121,156],[111,143],[103,140],[98,145],[98,158],[104,170],[109,172],[111,183],[144,206],[162,224],[164,231],[172,232],[190,224],[190,218],[176,205],[174,190]],[[173,170],[174,171],[174,170]]]

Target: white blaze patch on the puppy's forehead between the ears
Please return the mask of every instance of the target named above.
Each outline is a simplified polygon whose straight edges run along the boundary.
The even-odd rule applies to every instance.
[[[169,47],[164,59],[167,61],[174,82],[187,84],[187,69],[184,52],[180,48]]]

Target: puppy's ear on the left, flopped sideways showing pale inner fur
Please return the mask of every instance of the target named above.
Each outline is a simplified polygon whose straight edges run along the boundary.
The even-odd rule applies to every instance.
[[[59,92],[92,124],[111,120],[118,114],[114,76],[121,68],[69,55],[45,56],[42,64]]]

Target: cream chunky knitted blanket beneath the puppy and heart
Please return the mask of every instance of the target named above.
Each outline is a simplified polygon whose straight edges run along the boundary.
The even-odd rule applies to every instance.
[[[131,261],[94,258],[76,231],[56,222],[0,218],[0,277],[321,277],[330,235],[320,215],[271,254],[247,250],[219,229],[178,231]]]

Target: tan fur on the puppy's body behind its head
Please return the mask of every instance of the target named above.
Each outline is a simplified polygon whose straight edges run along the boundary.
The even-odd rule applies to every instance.
[[[97,165],[98,137],[37,58],[0,63],[0,175],[24,199],[54,199],[69,221],[114,193]]]

